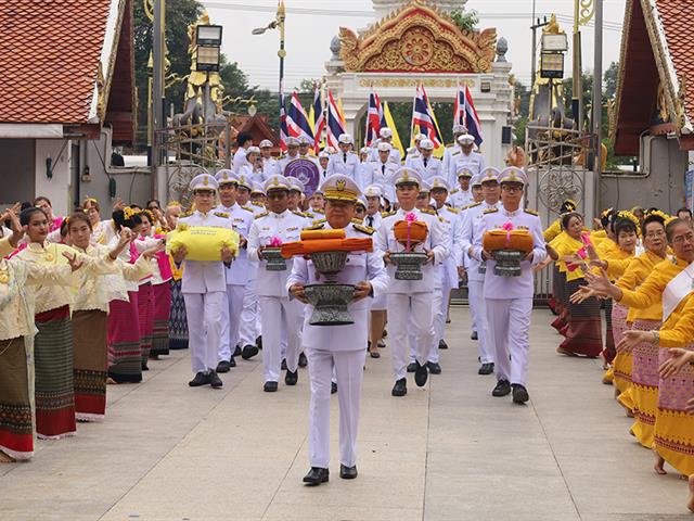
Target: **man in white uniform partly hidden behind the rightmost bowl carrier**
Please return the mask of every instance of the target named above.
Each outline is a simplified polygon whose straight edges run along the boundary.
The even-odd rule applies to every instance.
[[[485,270],[486,264],[480,264],[478,258],[472,255],[473,244],[479,233],[479,224],[484,212],[499,208],[499,170],[493,166],[485,168],[481,177],[481,191],[485,198],[483,203],[473,204],[463,212],[463,232],[461,249],[465,252],[467,260],[467,302],[473,316],[473,340],[477,340],[477,350],[480,361],[478,374],[491,374],[494,371],[494,352],[489,341],[489,323],[487,321],[487,305],[485,300]],[[477,333],[475,338],[475,332]]]

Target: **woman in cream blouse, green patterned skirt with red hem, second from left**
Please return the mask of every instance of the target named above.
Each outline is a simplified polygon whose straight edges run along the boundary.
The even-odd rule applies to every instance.
[[[85,257],[65,244],[49,243],[49,219],[42,209],[22,212],[22,226],[29,238],[15,258],[44,266],[85,264],[86,268],[106,259]],[[13,257],[14,258],[14,257]],[[39,437],[57,440],[76,431],[73,382],[72,288],[39,285],[36,291],[34,341],[36,368],[36,431]]]

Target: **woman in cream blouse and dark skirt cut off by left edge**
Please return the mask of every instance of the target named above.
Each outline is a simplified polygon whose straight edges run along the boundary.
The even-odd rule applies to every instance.
[[[34,455],[35,287],[73,283],[70,265],[3,258],[24,234],[14,213],[11,219],[14,232],[0,240],[0,462]]]

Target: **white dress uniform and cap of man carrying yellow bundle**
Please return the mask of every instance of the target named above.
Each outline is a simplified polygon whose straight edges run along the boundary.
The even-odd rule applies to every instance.
[[[191,181],[191,189],[195,189],[196,179],[207,176],[208,186],[217,187],[214,177],[201,174]],[[197,186],[196,188],[207,188]],[[229,218],[210,211],[203,214],[193,212],[188,217],[181,217],[179,223],[191,226],[211,226],[229,228]],[[217,356],[221,339],[222,306],[226,305],[227,279],[226,267],[222,262],[184,260],[181,293],[185,302],[188,318],[189,345],[193,372],[210,372],[217,368]]]

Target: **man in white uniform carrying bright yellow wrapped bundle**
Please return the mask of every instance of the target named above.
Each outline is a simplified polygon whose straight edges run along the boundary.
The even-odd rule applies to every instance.
[[[215,212],[215,194],[217,180],[209,174],[201,174],[193,178],[190,189],[193,192],[195,212],[181,217],[179,223],[192,226],[211,226],[229,228],[229,217]],[[174,262],[180,266],[188,251],[179,247],[172,252]],[[183,268],[181,292],[185,301],[188,318],[189,346],[195,378],[189,382],[191,387],[210,384],[213,389],[222,386],[216,372],[219,342],[221,339],[221,321],[223,306],[227,305],[227,280],[224,270],[231,267],[233,252],[228,247],[221,250],[221,260],[187,260]]]

